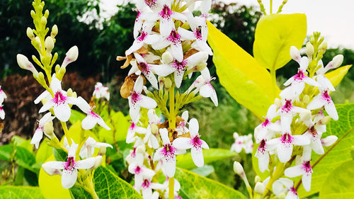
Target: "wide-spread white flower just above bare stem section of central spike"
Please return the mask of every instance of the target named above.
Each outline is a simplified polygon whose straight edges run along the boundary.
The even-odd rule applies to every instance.
[[[173,54],[172,54],[173,55]],[[175,57],[176,58],[176,57]],[[179,88],[182,83],[182,79],[184,76],[185,69],[191,69],[196,64],[203,63],[207,61],[207,53],[206,52],[197,52],[190,57],[183,59],[182,61],[178,61],[178,59],[174,59],[173,62],[169,64],[160,64],[154,66],[154,71],[159,76],[168,76],[169,74],[174,72],[174,79],[176,83],[176,87]],[[210,78],[210,76],[209,76]],[[205,81],[207,81],[206,79]],[[210,81],[210,80],[209,80]]]

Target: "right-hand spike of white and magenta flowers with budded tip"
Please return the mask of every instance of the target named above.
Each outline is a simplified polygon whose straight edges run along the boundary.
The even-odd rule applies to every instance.
[[[314,52],[313,45],[319,52]],[[289,179],[297,176],[302,176],[304,189],[310,191],[312,151],[324,154],[324,147],[337,140],[334,135],[322,137],[329,120],[338,120],[329,95],[335,89],[325,74],[329,69],[341,66],[343,55],[337,55],[324,67],[320,56],[325,50],[326,43],[314,42],[314,38],[307,43],[307,56],[301,57],[299,50],[291,47],[290,55],[299,64],[297,74],[285,82],[287,87],[280,93],[281,99],[275,99],[264,122],[254,130],[259,144],[256,152],[259,169],[273,173],[263,184],[267,188],[273,186],[275,195],[298,198],[299,183],[294,187],[294,182]],[[281,178],[283,175],[288,178]]]

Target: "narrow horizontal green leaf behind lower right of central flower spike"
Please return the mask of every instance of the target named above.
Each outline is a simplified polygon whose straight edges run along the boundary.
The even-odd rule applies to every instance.
[[[229,149],[203,149],[204,164],[209,164],[213,161],[218,161],[220,159],[225,159],[229,157],[236,156],[236,152],[232,152]],[[195,166],[190,152],[186,154],[181,154],[176,157],[177,166],[183,169],[193,169]]]

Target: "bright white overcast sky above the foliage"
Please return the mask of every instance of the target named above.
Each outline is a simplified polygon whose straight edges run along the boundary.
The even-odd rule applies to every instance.
[[[108,17],[118,11],[116,4],[129,0],[102,0],[101,8]],[[132,0],[130,0],[132,1]],[[257,0],[218,0],[247,6],[258,6]],[[270,0],[262,0],[269,13]],[[273,0],[273,12],[278,11],[282,0]],[[354,0],[288,0],[282,13],[305,13],[307,35],[321,32],[329,47],[346,47],[354,50]]]

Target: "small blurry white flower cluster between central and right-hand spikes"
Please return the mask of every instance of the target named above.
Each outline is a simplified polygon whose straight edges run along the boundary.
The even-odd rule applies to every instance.
[[[253,151],[253,140],[252,135],[239,135],[237,132],[234,132],[235,142],[231,146],[231,151],[240,153],[242,149],[246,154],[251,154]]]

